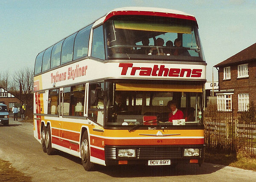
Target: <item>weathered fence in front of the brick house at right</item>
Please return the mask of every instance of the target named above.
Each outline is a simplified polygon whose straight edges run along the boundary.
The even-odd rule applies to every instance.
[[[230,152],[242,150],[256,154],[256,121],[248,120],[249,111],[217,111],[208,107],[205,111],[205,144],[208,149]],[[246,119],[244,119],[246,118]]]

